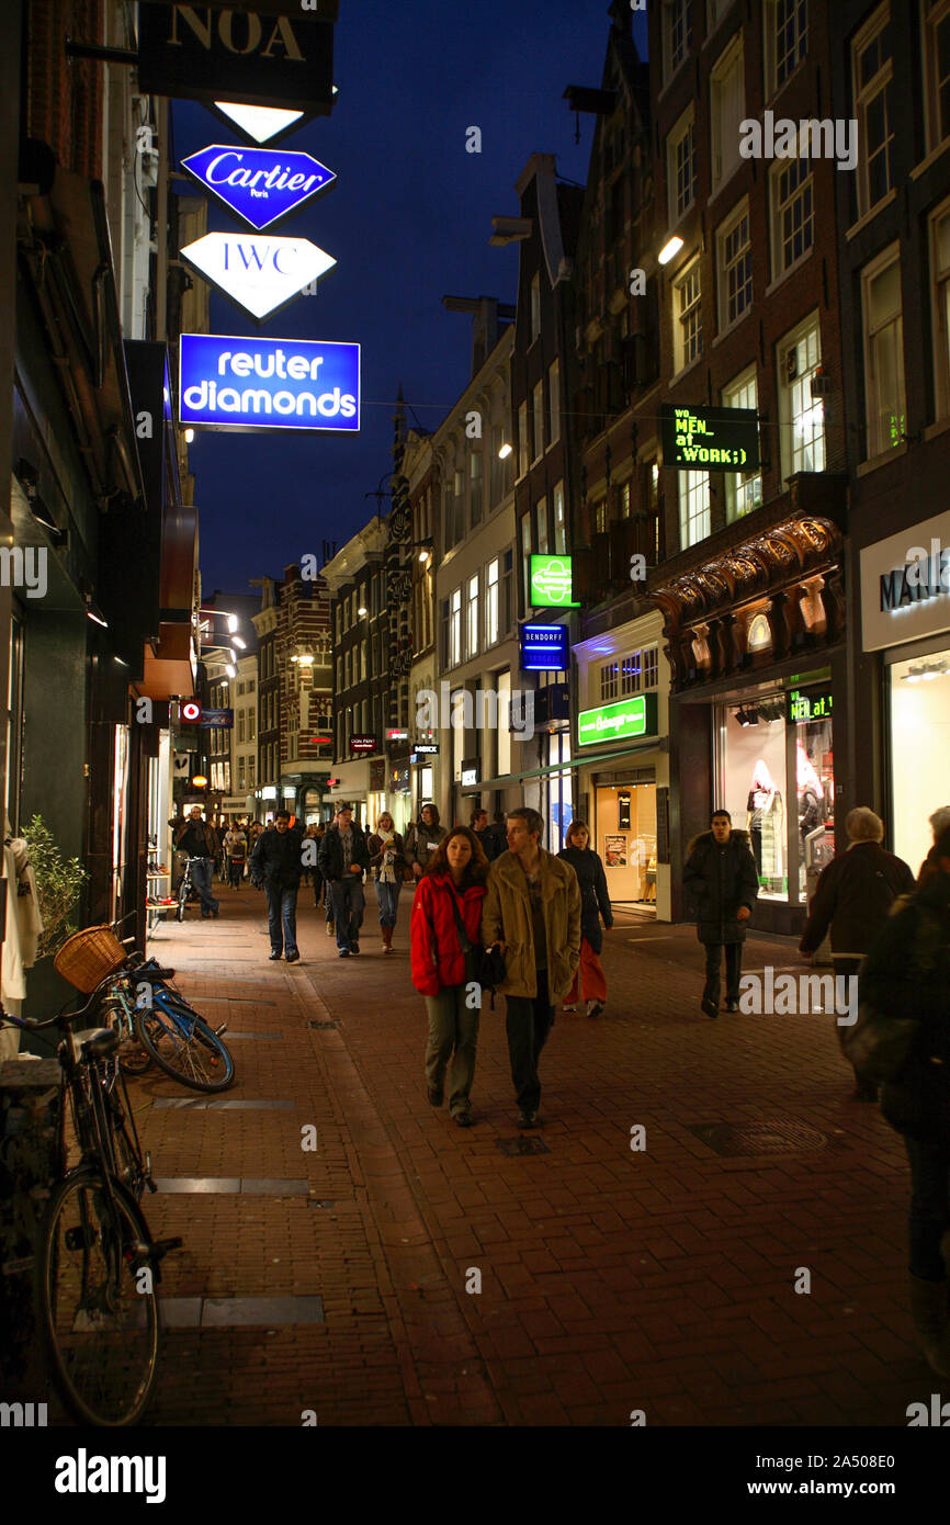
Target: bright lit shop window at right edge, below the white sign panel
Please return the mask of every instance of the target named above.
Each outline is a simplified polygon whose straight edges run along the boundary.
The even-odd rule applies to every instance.
[[[886,668],[894,840],[916,874],[933,842],[929,816],[950,805],[950,650]]]

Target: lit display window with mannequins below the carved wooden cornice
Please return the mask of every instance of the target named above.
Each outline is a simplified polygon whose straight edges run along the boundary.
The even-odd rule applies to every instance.
[[[804,904],[834,856],[831,683],[717,706],[715,804],[749,833],[759,898]]]

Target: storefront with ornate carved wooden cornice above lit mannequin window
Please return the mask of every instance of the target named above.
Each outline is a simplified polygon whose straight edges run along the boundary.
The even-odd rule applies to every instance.
[[[842,535],[804,515],[651,592],[671,653],[674,917],[714,808],[749,833],[755,924],[798,933],[834,842],[834,724],[848,695]],[[840,772],[840,770],[839,770]]]

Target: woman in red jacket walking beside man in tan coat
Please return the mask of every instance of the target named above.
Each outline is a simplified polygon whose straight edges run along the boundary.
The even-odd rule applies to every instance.
[[[412,982],[425,996],[428,1046],[425,1083],[433,1107],[445,1100],[445,1068],[451,1058],[448,1109],[461,1128],[471,1127],[471,1081],[479,1046],[479,1008],[468,1002],[465,955],[459,939],[476,944],[482,933],[482,901],[488,859],[468,827],[456,827],[439,842],[412,903]]]

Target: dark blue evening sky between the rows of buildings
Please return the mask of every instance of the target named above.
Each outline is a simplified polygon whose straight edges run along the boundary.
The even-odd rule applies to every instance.
[[[218,334],[335,339],[361,349],[355,436],[198,433],[191,450],[206,593],[244,592],[322,540],[343,544],[375,512],[366,499],[392,468],[396,387],[436,429],[470,374],[471,319],[441,299],[514,302],[517,244],[493,249],[491,218],[517,215],[514,183],[532,152],[587,178],[593,117],[575,117],[567,84],[599,85],[605,0],[343,0],[335,27],[340,90],[319,117],[279,145],[314,154],[339,183],[278,232],[311,238],[337,259],[317,296],[258,326],[212,294]],[[647,53],[643,17],[634,37]],[[465,130],[482,152],[465,152]],[[241,143],[217,116],[174,105],[177,159],[207,143]],[[209,229],[235,232],[209,207]],[[195,278],[198,279],[198,278]],[[410,415],[412,422],[412,415]],[[384,483],[386,485],[386,483]]]

